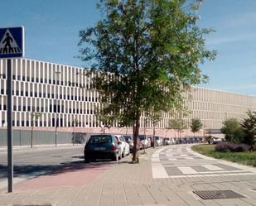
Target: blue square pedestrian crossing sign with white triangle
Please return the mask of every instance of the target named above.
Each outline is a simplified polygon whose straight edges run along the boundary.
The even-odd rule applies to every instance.
[[[24,57],[24,27],[0,28],[0,59]]]

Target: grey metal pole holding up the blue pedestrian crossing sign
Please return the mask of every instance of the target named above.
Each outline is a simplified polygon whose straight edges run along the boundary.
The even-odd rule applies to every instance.
[[[8,162],[8,193],[13,190],[12,160],[12,60],[7,60],[7,162]]]

